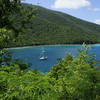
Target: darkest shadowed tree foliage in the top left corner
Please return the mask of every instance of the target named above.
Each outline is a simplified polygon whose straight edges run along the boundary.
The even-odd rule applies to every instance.
[[[20,0],[0,0],[0,28],[9,24],[8,16],[18,9]]]

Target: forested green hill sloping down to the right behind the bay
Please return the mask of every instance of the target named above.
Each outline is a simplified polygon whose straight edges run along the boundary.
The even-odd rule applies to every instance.
[[[100,26],[68,14],[23,4],[9,17],[15,39],[10,46],[100,43]]]

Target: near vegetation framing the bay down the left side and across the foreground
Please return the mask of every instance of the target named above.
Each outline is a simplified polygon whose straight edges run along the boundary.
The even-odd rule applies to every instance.
[[[4,11],[0,16],[0,100],[100,100],[100,70],[85,45],[76,57],[67,55],[47,74],[28,70],[28,64],[12,59],[3,47],[22,35],[9,20],[12,13],[23,12],[21,7],[19,0],[0,0],[0,13]],[[25,17],[30,19],[32,13]]]

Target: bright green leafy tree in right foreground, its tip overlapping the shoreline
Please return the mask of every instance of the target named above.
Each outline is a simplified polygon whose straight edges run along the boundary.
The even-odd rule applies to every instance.
[[[99,100],[100,71],[95,68],[87,47],[72,58],[68,56],[49,72],[56,79],[54,88],[61,100]]]

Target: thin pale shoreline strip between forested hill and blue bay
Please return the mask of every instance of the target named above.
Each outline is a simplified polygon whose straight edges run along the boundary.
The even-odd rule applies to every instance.
[[[40,46],[82,46],[82,44],[47,44],[47,45],[29,45],[29,46],[18,46],[18,47],[8,47],[4,49],[20,49],[20,48],[30,48],[30,47],[40,47]],[[100,45],[100,44],[86,44],[86,45]]]

